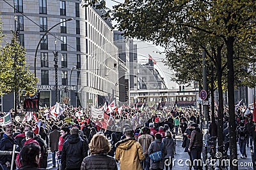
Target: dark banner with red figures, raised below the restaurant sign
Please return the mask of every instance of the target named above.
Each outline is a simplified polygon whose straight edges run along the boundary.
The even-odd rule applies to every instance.
[[[25,99],[23,104],[24,111],[38,111],[39,110],[40,92],[35,96]]]

